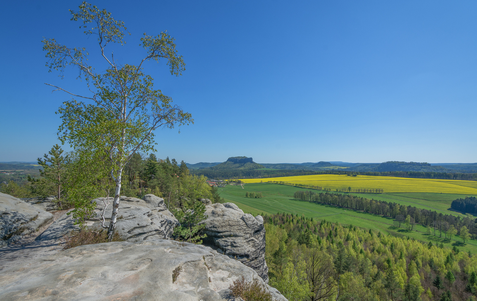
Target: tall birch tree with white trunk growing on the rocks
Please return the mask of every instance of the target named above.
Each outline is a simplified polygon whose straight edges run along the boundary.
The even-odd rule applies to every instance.
[[[96,72],[88,60],[89,52],[83,47],[69,48],[55,39],[44,38],[43,50],[47,52],[49,72],[59,71],[62,77],[66,67],[77,68],[78,78],[86,83],[89,93],[74,93],[59,85],[46,84],[55,87],[54,91],[72,96],[56,112],[62,119],[59,139],[79,153],[87,150],[85,153],[103,160],[114,181],[113,213],[109,226],[103,223],[103,228],[108,229],[109,239],[112,239],[124,166],[136,152],[155,151],[154,130],[157,128],[193,123],[191,114],[173,105],[172,99],[161,90],[154,89],[154,80],[143,72],[143,64],[165,60],[171,75],[178,76],[185,70],[185,63],[176,51],[175,39],[167,32],[157,36],[144,33],[140,39],[145,50],[144,58],[136,65],[119,63],[113,52],[108,54],[106,47],[108,44],[124,44],[125,35],[130,34],[124,22],[87,2],[83,2],[78,11],[70,12],[72,21],[81,22],[84,34],[97,37],[97,52],[107,68]]]

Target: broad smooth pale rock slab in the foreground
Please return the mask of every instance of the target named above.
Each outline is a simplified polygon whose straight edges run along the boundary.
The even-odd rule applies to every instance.
[[[182,271],[173,283],[173,270]],[[80,246],[3,270],[0,300],[233,300],[234,280],[263,281],[211,248],[174,240]],[[265,285],[265,284],[264,284]],[[266,285],[276,301],[287,301]]]

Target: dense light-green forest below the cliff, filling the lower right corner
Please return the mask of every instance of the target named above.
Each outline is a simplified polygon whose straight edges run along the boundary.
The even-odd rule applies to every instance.
[[[264,221],[270,285],[288,300],[476,300],[467,252],[289,213]]]

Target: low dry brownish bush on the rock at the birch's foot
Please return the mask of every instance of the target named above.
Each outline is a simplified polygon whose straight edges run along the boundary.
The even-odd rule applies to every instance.
[[[112,241],[124,241],[124,239],[121,239],[119,234],[115,232]],[[107,231],[104,231],[103,229],[99,231],[88,229],[73,231],[67,235],[63,235],[60,245],[63,246],[63,250],[66,250],[78,246],[92,245],[103,242],[109,242]]]

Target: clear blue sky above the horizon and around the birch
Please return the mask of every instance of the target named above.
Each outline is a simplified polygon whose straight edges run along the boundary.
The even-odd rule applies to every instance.
[[[146,72],[194,125],[157,131],[157,156],[188,163],[477,162],[476,1],[92,2],[132,33],[120,62],[167,30],[187,70]],[[57,143],[54,112],[84,92],[47,73],[42,37],[98,54],[70,21],[80,1],[5,1],[0,161],[33,161]],[[97,70],[103,65],[98,61]]]

